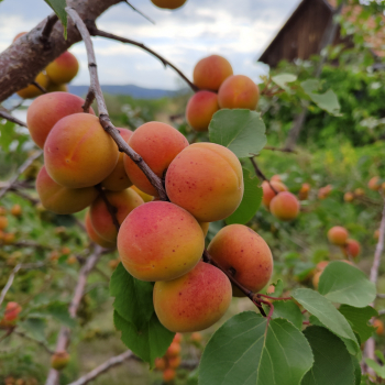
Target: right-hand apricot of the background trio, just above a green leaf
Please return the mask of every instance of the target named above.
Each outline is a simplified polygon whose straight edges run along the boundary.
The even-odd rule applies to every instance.
[[[244,75],[232,75],[228,77],[218,91],[220,108],[255,110],[258,100],[258,86]]]

